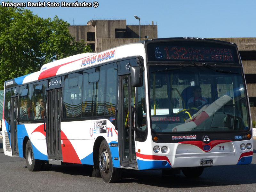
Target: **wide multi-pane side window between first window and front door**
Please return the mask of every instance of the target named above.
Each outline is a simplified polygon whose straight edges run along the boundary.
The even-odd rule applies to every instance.
[[[84,71],[82,116],[114,115],[116,108],[117,64]]]

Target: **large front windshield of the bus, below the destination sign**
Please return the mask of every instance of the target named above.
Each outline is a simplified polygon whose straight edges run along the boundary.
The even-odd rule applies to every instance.
[[[154,132],[248,130],[241,67],[149,66]]]

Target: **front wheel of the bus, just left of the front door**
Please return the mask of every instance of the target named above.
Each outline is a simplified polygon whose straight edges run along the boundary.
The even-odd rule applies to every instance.
[[[103,140],[99,150],[100,175],[106,183],[117,182],[121,177],[121,169],[113,167],[112,157],[108,143]]]

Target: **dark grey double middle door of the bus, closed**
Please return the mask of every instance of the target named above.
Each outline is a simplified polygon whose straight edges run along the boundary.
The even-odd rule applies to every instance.
[[[61,164],[61,97],[62,88],[47,92],[46,143],[50,164]]]

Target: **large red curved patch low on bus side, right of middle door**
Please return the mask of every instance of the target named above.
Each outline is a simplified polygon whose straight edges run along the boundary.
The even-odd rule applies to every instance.
[[[60,134],[61,134],[61,140],[62,140],[61,150],[62,150],[63,162],[82,164],[71,142],[68,139],[63,139],[63,138],[67,138],[65,133],[61,131]]]

